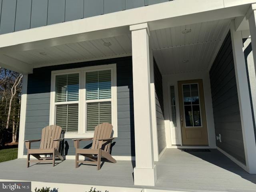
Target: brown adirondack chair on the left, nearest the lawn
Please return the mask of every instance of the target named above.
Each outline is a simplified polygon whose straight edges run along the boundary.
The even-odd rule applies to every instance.
[[[60,138],[62,128],[58,125],[46,126],[42,129],[42,139],[38,140],[26,140],[26,148],[28,150],[27,167],[30,162],[52,162],[52,166],[55,165],[55,156],[64,160],[58,151],[60,141],[64,138]],[[31,149],[32,142],[41,142],[39,149]],[[30,160],[30,155],[37,158],[37,160]],[[40,155],[52,155],[51,157],[41,157]]]

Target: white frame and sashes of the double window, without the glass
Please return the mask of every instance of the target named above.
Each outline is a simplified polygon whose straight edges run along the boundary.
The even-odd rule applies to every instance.
[[[111,70],[111,98],[100,100],[86,100],[86,72]],[[79,73],[79,98],[78,98],[78,132],[66,132],[64,138],[89,138],[94,136],[94,132],[86,132],[86,103],[88,102],[111,102],[111,118],[113,125],[113,137],[118,136],[117,127],[117,86],[116,86],[116,64],[106,64],[98,66],[88,66],[82,68],[73,68],[65,70],[52,71],[51,76],[51,94],[50,94],[50,122],[49,124],[55,124],[55,106],[56,104],[71,104],[72,102],[55,102],[55,84],[56,76],[62,74],[74,74]],[[77,102],[76,102],[77,103]]]

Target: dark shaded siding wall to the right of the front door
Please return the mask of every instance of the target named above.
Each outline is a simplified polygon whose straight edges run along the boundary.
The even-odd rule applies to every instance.
[[[246,164],[230,32],[210,69],[212,106],[219,148]]]

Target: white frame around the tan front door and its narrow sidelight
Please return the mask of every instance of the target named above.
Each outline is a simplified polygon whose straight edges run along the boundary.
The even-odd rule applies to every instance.
[[[195,80],[202,79],[204,88],[204,100],[205,100],[205,110],[206,110],[206,124],[207,124],[207,134],[208,134],[208,146],[183,146],[181,137],[181,127],[180,127],[180,106],[178,98],[178,81],[184,80]],[[214,118],[213,118],[213,108],[212,108],[212,94],[210,89],[210,76],[208,71],[203,72],[190,72],[190,73],[180,73],[180,74],[168,74],[163,75],[164,83],[164,113],[165,113],[165,126],[166,134],[170,135],[167,138],[166,143],[168,148],[216,148],[215,140],[215,128],[214,128]],[[171,108],[170,108],[170,86],[174,85],[175,90],[175,102],[176,102],[176,118],[177,127],[180,136],[180,145],[174,145],[171,141],[172,125],[171,125]],[[169,132],[169,133],[168,133]]]

